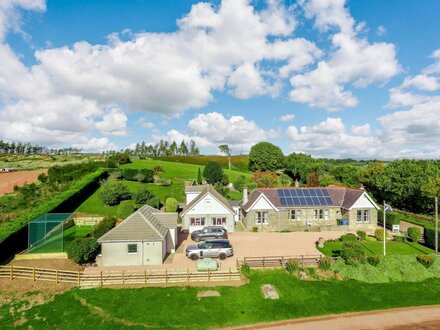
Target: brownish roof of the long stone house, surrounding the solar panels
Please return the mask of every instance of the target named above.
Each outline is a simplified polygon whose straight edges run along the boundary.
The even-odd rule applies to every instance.
[[[316,187],[322,190],[326,190],[333,202],[333,205],[322,205],[322,206],[330,206],[330,207],[342,207],[344,209],[351,208],[354,203],[365,193],[362,189],[351,189],[342,186],[329,186],[329,187]],[[282,188],[286,189],[286,188]],[[289,188],[290,190],[299,190],[299,189],[313,189],[313,188]],[[249,207],[254,204],[254,202],[258,199],[258,197],[263,194],[266,198],[276,207],[276,208],[285,208],[286,206],[281,205],[278,188],[257,188],[249,195],[249,201],[243,205],[245,210],[249,209]],[[320,205],[317,205],[320,206]],[[291,206],[289,206],[290,208]]]

